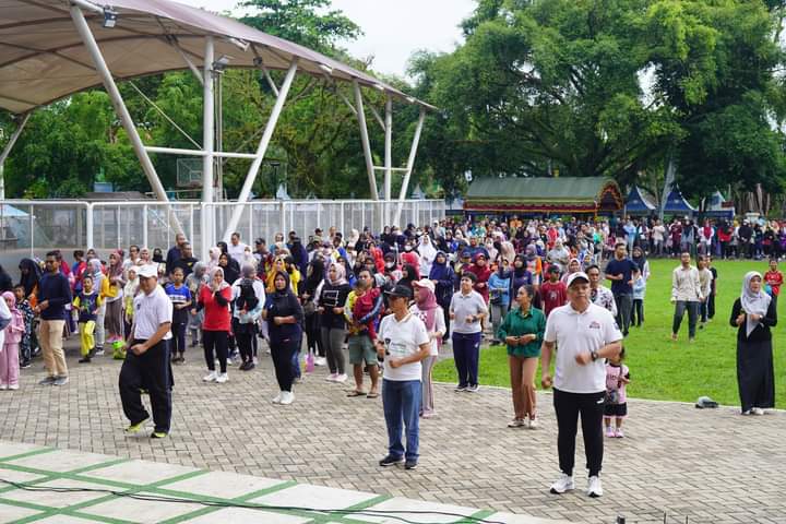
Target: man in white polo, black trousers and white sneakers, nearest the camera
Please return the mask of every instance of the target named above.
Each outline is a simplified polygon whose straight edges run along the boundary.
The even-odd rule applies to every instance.
[[[555,362],[553,404],[557,413],[557,449],[560,478],[551,485],[552,493],[573,489],[575,437],[579,416],[582,420],[584,450],[590,480],[587,495],[600,497],[603,466],[603,415],[606,396],[605,359],[622,349],[622,333],[611,312],[591,301],[590,277],[577,272],[568,278],[569,303],[551,310],[546,322],[541,347],[543,386],[552,385],[551,355],[559,348]]]

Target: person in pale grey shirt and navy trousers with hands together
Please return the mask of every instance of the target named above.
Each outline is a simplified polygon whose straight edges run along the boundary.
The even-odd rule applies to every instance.
[[[480,357],[480,321],[488,314],[486,300],[473,290],[477,277],[466,272],[461,278],[461,288],[453,294],[450,318],[453,321],[453,360],[458,371],[455,391],[478,391],[478,359]]]

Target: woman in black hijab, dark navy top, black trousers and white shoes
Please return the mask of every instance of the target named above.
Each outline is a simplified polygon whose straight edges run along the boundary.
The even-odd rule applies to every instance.
[[[265,300],[262,318],[267,321],[271,357],[279,389],[273,404],[287,405],[295,400],[291,392],[291,360],[302,340],[303,312],[300,301],[291,290],[286,271],[276,271],[273,289]]]

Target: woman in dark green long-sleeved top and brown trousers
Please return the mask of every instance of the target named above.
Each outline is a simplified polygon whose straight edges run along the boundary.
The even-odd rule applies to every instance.
[[[532,286],[521,286],[516,294],[519,307],[511,309],[497,332],[497,338],[508,344],[513,409],[515,416],[509,428],[538,426],[535,415],[535,371],[540,357],[540,343],[546,331],[546,315],[532,307]]]

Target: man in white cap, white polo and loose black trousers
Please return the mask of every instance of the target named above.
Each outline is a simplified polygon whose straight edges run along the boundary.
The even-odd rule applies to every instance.
[[[140,393],[143,388],[147,390],[155,421],[151,438],[163,439],[169,433],[171,421],[169,342],[172,303],[158,285],[155,265],[142,265],[136,274],[142,293],[133,301],[133,325],[126,342],[126,360],[120,369],[120,401],[126,417],[131,421],[126,431],[138,433],[150,418]]]

